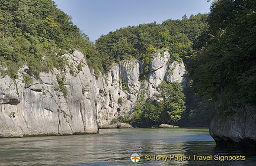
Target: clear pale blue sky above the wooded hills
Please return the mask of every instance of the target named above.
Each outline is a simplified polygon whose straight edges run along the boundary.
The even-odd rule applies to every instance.
[[[73,24],[95,41],[119,28],[162,24],[167,19],[181,19],[184,14],[207,14],[207,0],[53,0],[57,8],[72,17]]]

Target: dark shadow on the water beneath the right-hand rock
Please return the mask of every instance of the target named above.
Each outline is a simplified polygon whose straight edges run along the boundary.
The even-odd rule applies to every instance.
[[[188,141],[185,144],[185,155],[191,155],[191,160],[187,165],[248,165],[254,166],[256,164],[255,149],[238,149],[238,148],[219,148],[210,142],[204,141]],[[193,156],[193,155],[197,155]],[[200,160],[201,156],[210,156],[210,161]],[[233,160],[228,161],[228,158]]]

